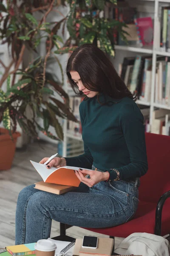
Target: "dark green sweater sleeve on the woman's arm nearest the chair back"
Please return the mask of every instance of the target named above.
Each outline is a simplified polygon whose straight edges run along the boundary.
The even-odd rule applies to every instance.
[[[119,126],[125,138],[129,151],[130,163],[126,166],[117,167],[120,179],[126,180],[141,177],[147,172],[147,153],[145,145],[144,120],[143,115],[137,105],[126,104],[120,109]],[[110,179],[116,178],[116,172],[110,172]]]

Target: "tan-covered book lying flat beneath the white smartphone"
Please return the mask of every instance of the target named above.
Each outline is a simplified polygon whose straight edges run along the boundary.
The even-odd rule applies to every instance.
[[[114,240],[112,238],[98,238],[96,249],[82,247],[82,239],[76,239],[73,256],[111,256]]]

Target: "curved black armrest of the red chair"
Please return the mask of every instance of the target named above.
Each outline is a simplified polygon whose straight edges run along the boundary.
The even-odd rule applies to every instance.
[[[170,197],[170,190],[165,192],[161,197],[159,198],[157,207],[156,207],[156,216],[155,216],[155,235],[161,236],[161,216],[162,216],[162,208],[164,206],[164,202],[167,200],[167,198]]]

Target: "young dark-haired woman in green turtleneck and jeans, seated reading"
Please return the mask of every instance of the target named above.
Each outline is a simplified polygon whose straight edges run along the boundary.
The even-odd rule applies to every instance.
[[[135,95],[105,53],[92,44],[72,53],[67,76],[73,90],[86,95],[79,106],[84,154],[56,157],[47,168],[77,166],[81,183],[77,191],[62,195],[34,185],[24,188],[17,202],[16,244],[47,239],[52,219],[79,227],[112,227],[133,218],[138,207],[139,177],[147,172],[147,154]]]

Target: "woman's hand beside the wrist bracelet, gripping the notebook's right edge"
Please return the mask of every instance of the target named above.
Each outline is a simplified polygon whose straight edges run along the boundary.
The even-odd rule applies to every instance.
[[[80,170],[79,171],[76,171],[75,170],[75,173],[76,173],[76,176],[77,178],[82,182],[82,183],[85,183],[87,186],[89,186],[90,188],[92,186],[94,186],[95,184],[99,183],[100,181],[103,181],[103,180],[108,180],[109,178],[109,172],[99,172],[99,171],[89,171],[89,170]],[[84,175],[89,175],[90,178],[86,178],[84,177]]]

